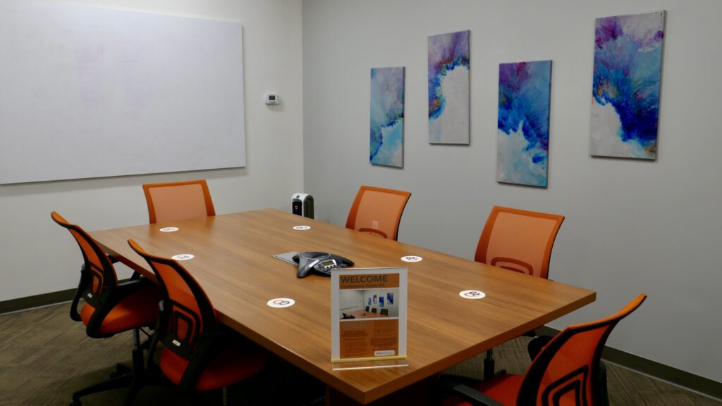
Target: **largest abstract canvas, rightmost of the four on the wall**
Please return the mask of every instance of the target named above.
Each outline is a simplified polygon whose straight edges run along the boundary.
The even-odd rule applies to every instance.
[[[589,154],[656,158],[664,17],[596,19]]]

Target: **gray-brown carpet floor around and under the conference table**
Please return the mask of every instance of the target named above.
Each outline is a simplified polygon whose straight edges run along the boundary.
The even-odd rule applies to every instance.
[[[0,406],[68,405],[75,390],[108,379],[116,363],[130,362],[131,334],[105,339],[85,335],[82,323],[68,315],[69,304],[0,315]],[[521,374],[529,366],[528,337],[495,349],[497,367]],[[482,356],[448,370],[482,376]],[[722,402],[651,379],[619,366],[608,368],[611,406],[722,406]],[[116,406],[124,389],[92,394],[84,406]],[[230,405],[323,405],[323,384],[280,360],[258,379],[229,389]],[[219,393],[199,404],[220,404]],[[147,387],[134,402],[142,405],[191,405],[172,387]]]

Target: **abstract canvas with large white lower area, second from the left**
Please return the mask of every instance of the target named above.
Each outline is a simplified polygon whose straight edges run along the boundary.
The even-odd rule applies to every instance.
[[[469,31],[429,37],[429,142],[469,144]]]

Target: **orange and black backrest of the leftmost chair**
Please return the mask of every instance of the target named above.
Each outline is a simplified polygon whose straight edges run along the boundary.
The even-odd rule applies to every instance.
[[[76,224],[70,224],[56,211],[51,213],[51,218],[70,231],[78,243],[84,260],[78,289],[82,292],[84,301],[95,308],[99,307],[100,298],[118,286],[118,276],[113,262],[110,262],[108,255],[105,255],[95,239],[92,239],[82,228]]]

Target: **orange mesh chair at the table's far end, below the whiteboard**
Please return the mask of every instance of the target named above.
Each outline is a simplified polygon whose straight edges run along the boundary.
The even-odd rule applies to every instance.
[[[216,215],[205,180],[147,183],[143,191],[151,224]]]

